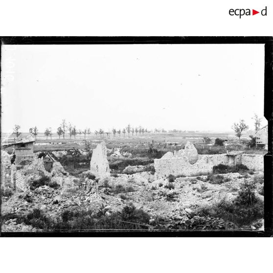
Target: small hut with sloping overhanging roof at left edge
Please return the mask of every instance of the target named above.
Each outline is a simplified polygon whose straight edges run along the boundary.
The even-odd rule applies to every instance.
[[[19,164],[22,161],[33,160],[33,144],[35,139],[32,136],[23,137],[16,142],[1,145],[4,149],[10,146],[14,146],[15,164]]]

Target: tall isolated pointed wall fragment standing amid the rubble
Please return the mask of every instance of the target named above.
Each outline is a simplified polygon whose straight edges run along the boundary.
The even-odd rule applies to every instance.
[[[101,141],[92,152],[90,170],[96,177],[105,177],[110,175],[109,162],[107,160],[107,148],[105,141]]]

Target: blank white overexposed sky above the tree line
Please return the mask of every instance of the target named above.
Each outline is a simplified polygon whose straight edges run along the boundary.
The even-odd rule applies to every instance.
[[[264,45],[2,45],[2,132],[231,131],[263,116]],[[263,119],[265,123],[265,119]]]

